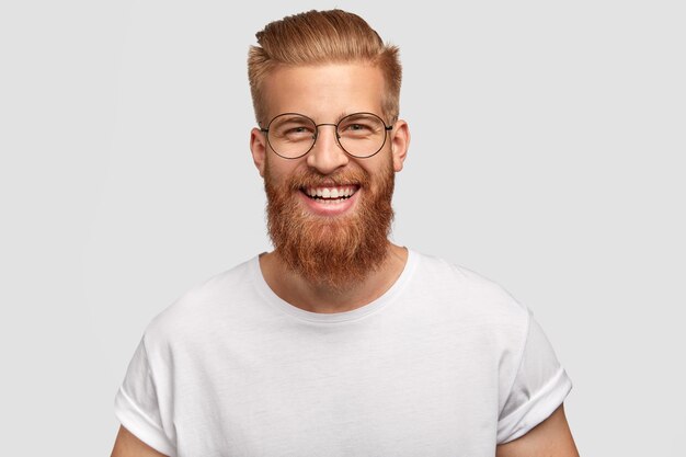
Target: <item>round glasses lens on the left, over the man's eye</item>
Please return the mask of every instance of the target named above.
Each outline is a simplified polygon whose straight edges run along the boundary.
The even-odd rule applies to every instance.
[[[294,159],[306,155],[317,136],[312,119],[299,114],[282,114],[268,126],[268,141],[274,152]]]

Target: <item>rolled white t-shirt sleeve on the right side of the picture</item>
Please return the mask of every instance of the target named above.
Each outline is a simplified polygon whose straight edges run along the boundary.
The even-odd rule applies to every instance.
[[[550,342],[529,313],[519,366],[498,421],[498,444],[516,439],[545,421],[571,389]]]

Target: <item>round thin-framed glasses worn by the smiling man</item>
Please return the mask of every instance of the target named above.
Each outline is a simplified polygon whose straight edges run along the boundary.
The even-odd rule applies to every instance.
[[[266,140],[277,156],[299,159],[315,147],[322,125],[335,127],[339,146],[359,159],[380,151],[386,145],[386,133],[393,128],[373,113],[350,114],[336,124],[316,124],[302,114],[284,113],[260,129],[266,134]]]

